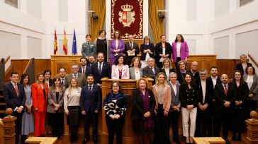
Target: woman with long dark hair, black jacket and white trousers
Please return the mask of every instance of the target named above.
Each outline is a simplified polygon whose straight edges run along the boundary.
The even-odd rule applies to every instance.
[[[184,82],[179,88],[179,99],[181,101],[183,136],[186,143],[194,143],[194,133],[196,130],[196,115],[198,105],[198,86],[194,76],[190,72],[186,72]],[[189,119],[190,119],[190,136],[189,136]]]

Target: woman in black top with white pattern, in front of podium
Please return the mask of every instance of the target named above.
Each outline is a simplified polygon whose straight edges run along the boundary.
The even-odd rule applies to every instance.
[[[125,110],[128,105],[125,95],[120,92],[118,81],[113,81],[112,92],[109,92],[103,100],[106,113],[106,126],[108,127],[108,144],[113,144],[116,133],[116,143],[122,144],[122,130],[125,124]]]

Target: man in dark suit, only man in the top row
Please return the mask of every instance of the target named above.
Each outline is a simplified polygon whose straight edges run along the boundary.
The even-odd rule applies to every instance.
[[[125,43],[125,64],[130,66],[132,59],[139,54],[140,49],[137,43],[133,42],[133,35],[128,36],[128,41]],[[134,54],[133,56],[128,56],[128,54]]]

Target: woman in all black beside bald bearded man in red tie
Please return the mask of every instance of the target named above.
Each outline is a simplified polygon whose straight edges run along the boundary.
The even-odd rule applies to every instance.
[[[235,103],[233,104],[233,136],[232,140],[241,141],[241,133],[245,131],[246,102],[249,95],[247,83],[242,78],[241,71],[235,71],[232,84],[237,88]]]

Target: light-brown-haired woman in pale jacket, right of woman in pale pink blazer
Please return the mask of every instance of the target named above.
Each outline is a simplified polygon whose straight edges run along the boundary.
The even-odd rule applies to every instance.
[[[130,64],[130,68],[129,68],[129,71],[130,71],[130,79],[133,79],[133,80],[138,80],[140,78],[142,78],[142,64],[140,63],[140,58],[135,56],[133,59],[132,59],[132,63]]]

